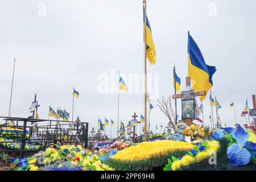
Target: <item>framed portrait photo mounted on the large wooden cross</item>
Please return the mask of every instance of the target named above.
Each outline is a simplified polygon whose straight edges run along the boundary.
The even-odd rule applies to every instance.
[[[182,119],[195,118],[194,100],[181,101]]]

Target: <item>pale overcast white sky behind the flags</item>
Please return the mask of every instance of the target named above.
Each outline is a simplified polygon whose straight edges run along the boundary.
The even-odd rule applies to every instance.
[[[187,31],[199,45],[205,61],[217,68],[213,76],[213,96],[222,109],[220,117],[234,125],[235,100],[238,123],[246,98],[252,107],[255,94],[255,6],[254,0],[149,0],[150,20],[157,63],[148,73],[159,74],[158,97],[174,93],[172,66],[176,63],[181,89],[187,76]],[[40,3],[46,16],[39,16]],[[210,16],[209,6],[216,6]],[[117,93],[98,92],[98,76],[110,76],[114,69],[124,74],[142,73],[143,24],[140,0],[54,0],[0,1],[0,115],[9,109],[13,59],[16,57],[13,117],[28,117],[34,94],[40,103],[40,118],[48,118],[48,106],[61,106],[72,112],[72,89],[80,92],[75,100],[75,117],[97,127],[97,117],[117,121]],[[113,79],[112,79],[113,81]],[[129,88],[129,81],[127,87]],[[113,86],[112,86],[113,88]],[[120,117],[127,123],[134,112],[142,112],[142,94],[120,96]],[[151,114],[155,123],[168,120],[156,106]],[[209,124],[209,97],[205,99],[205,123]],[[178,102],[180,113],[180,102]],[[214,112],[215,113],[215,112]],[[214,118],[216,118],[214,114]],[[115,125],[115,129],[116,130]],[[107,128],[109,133],[109,127]]]

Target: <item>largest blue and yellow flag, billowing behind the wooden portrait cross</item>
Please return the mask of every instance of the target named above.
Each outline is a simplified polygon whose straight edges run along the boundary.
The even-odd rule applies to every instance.
[[[192,88],[196,91],[205,91],[213,86],[212,76],[216,68],[205,64],[204,57],[195,40],[188,31],[188,76],[191,77]],[[201,96],[203,101],[206,96]]]

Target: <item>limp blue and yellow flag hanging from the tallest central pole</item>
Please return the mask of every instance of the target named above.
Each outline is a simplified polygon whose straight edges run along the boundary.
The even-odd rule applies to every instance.
[[[144,26],[144,14],[145,14],[145,10],[144,10],[144,6],[143,6],[143,26]],[[154,40],[153,40],[153,36],[152,36],[152,31],[151,31],[151,27],[150,27],[150,23],[148,21],[147,18],[147,22],[146,22],[146,44],[147,44],[147,59],[150,61],[150,65],[154,65],[156,62],[156,52],[155,52],[155,44],[154,44]]]

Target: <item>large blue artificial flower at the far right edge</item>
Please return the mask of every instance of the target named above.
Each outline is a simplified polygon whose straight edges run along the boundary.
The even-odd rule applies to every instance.
[[[228,147],[228,157],[230,159],[230,166],[242,166],[250,162],[251,155],[256,157],[256,144],[248,142],[249,135],[238,125],[237,131],[229,129],[227,131],[237,143],[233,143]]]

